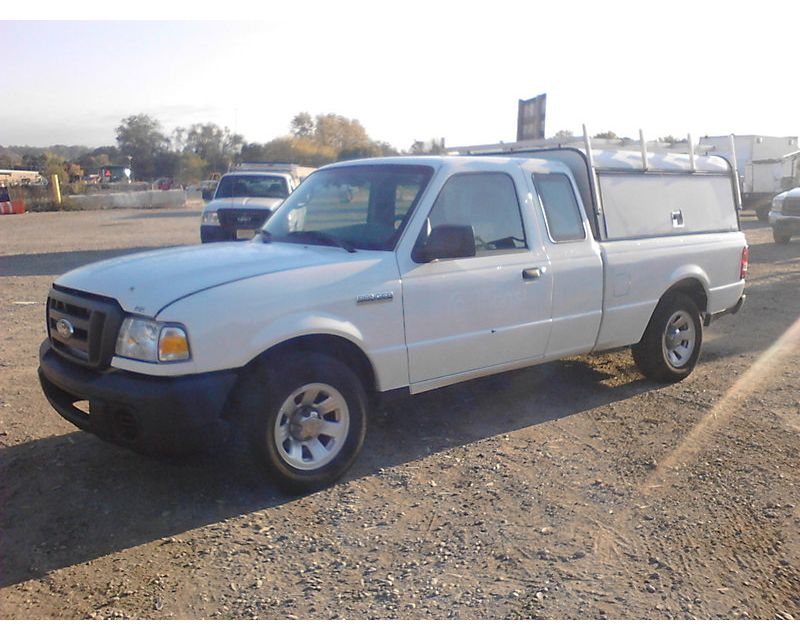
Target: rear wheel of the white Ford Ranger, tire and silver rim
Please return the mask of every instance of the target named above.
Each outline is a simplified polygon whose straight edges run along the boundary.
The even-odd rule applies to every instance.
[[[686,294],[671,293],[658,303],[641,341],[631,350],[636,366],[647,378],[678,382],[694,370],[702,343],[703,323],[697,305]]]

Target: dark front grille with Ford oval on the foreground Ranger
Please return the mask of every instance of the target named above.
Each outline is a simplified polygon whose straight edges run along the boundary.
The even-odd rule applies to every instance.
[[[122,319],[115,300],[55,285],[50,289],[47,335],[53,349],[73,362],[108,368]]]

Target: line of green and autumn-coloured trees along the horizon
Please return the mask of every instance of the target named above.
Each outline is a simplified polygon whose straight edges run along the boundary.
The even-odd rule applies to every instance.
[[[321,166],[338,160],[394,156],[398,151],[373,140],[355,119],[335,113],[311,116],[298,113],[290,131],[269,142],[247,142],[238,133],[214,123],[178,127],[171,133],[147,114],[124,118],[115,129],[116,145],[96,147],[0,147],[0,168],[29,169],[58,174],[62,182],[76,182],[107,164],[129,165],[134,179],[166,177],[184,184],[224,173],[238,162],[293,162]],[[443,141],[415,141],[407,153],[440,153]]]

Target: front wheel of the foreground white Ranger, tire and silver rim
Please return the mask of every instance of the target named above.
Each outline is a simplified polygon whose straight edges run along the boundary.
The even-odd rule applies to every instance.
[[[244,395],[241,419],[249,449],[287,493],[332,484],[363,447],[364,385],[331,356],[299,352],[273,366],[261,364],[248,374]]]

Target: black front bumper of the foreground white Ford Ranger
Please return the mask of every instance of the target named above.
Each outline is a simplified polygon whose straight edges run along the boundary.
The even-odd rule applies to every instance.
[[[222,419],[237,373],[156,378],[128,371],[93,371],[39,349],[39,381],[53,408],[76,427],[141,453],[179,454],[224,442]],[[89,412],[74,406],[89,401]]]

